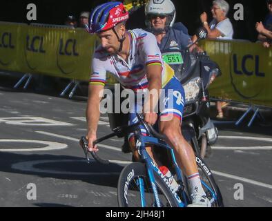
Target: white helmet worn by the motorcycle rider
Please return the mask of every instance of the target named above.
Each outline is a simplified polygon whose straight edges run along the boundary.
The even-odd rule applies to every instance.
[[[152,28],[150,16],[165,15],[166,28],[172,27],[175,23],[175,6],[171,0],[149,0],[145,8],[146,27]]]

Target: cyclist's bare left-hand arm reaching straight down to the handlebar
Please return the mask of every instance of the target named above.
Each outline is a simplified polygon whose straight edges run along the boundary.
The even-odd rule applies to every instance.
[[[103,90],[104,86],[102,85],[89,86],[88,104],[86,109],[86,120],[88,125],[86,138],[88,140],[89,151],[97,151],[97,146],[93,148],[93,142],[97,139],[97,125],[100,117],[99,104],[101,101],[99,93]]]

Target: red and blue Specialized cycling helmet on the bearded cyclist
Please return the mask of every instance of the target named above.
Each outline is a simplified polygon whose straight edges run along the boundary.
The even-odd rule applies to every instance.
[[[94,34],[110,30],[126,20],[128,20],[128,12],[121,2],[107,2],[93,10],[86,28],[89,33]]]

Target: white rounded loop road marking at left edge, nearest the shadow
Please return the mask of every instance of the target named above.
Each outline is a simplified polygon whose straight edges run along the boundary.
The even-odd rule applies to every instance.
[[[31,152],[31,151],[58,151],[67,148],[67,144],[57,142],[49,142],[44,140],[14,140],[14,139],[0,139],[1,143],[28,143],[28,144],[43,144],[46,147],[39,148],[0,148],[0,152]]]

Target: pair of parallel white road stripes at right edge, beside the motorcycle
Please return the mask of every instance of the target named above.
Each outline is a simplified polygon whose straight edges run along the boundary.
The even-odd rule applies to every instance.
[[[222,139],[230,139],[230,140],[253,140],[253,141],[262,141],[262,142],[271,142],[272,144],[272,138],[268,137],[242,137],[242,136],[219,136],[218,138]],[[270,151],[272,150],[272,146],[211,146],[213,150],[227,150],[227,151],[234,151],[234,150],[240,150],[240,151]]]

